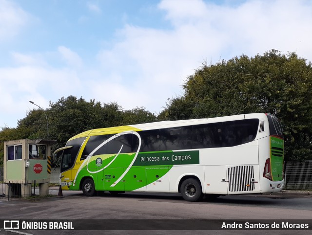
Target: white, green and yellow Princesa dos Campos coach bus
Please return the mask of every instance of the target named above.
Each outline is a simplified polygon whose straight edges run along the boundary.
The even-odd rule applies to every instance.
[[[279,192],[283,130],[272,114],[164,121],[80,133],[56,150],[62,190],[204,194]]]

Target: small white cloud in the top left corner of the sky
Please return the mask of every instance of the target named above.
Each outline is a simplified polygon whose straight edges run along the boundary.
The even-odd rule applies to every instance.
[[[30,18],[30,15],[14,2],[0,0],[0,41],[16,36]]]

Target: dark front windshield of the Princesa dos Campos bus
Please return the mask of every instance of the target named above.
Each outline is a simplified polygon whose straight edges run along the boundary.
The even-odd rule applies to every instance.
[[[66,171],[73,167],[80,147],[85,139],[86,137],[81,137],[67,142],[66,146],[72,147],[63,150],[61,158],[62,160],[60,164],[60,172]]]

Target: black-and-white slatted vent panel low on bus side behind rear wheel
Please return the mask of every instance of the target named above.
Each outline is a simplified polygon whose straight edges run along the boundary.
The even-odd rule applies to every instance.
[[[228,168],[229,191],[248,192],[254,190],[254,166]]]

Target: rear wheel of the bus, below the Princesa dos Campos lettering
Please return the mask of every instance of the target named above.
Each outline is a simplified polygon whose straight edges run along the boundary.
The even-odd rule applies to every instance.
[[[201,186],[198,180],[189,178],[181,184],[180,192],[184,200],[189,202],[199,201],[203,198]]]

